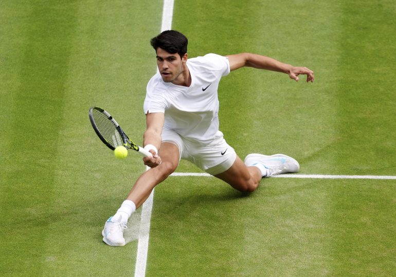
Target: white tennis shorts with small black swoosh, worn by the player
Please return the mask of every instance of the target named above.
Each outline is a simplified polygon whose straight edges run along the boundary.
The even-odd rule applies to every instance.
[[[221,131],[216,133],[210,144],[202,145],[186,140],[176,132],[164,128],[162,141],[175,144],[179,149],[180,159],[193,163],[211,175],[226,171],[237,159],[237,153],[224,140]]]

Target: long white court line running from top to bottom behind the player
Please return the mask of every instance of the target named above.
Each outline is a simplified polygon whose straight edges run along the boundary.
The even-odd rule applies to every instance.
[[[161,32],[170,30],[172,27],[173,0],[164,0]],[[142,205],[141,222],[139,230],[139,241],[137,243],[137,255],[135,266],[135,277],[146,275],[147,253],[149,249],[149,234],[151,211],[153,208],[154,189],[149,198]]]

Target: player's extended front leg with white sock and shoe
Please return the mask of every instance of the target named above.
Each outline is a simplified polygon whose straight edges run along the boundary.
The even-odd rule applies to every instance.
[[[131,214],[150,196],[151,191],[164,181],[179,163],[179,150],[172,143],[162,143],[158,155],[162,163],[141,174],[116,214],[110,217],[102,231],[103,241],[110,246],[124,246],[123,231]]]

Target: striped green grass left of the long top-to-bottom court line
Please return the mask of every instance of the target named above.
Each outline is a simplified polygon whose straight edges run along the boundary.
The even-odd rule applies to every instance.
[[[130,159],[134,170],[126,172],[113,159],[97,141],[88,109],[106,106],[126,130],[130,116],[138,129],[145,125],[139,80],[155,65],[139,63],[152,54],[141,42],[158,32],[160,21],[145,14],[160,7],[137,4],[8,3],[2,76],[13,82],[1,89],[1,127],[8,131],[1,142],[0,272],[97,275],[120,263],[114,274],[133,274],[136,242],[106,248],[100,231],[126,195],[127,180],[143,168]]]

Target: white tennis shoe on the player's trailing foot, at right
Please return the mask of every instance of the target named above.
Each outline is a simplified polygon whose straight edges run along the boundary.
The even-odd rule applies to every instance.
[[[275,154],[271,156],[248,154],[245,157],[246,166],[255,166],[257,164],[262,164],[267,170],[267,175],[265,177],[284,173],[295,173],[300,170],[300,165],[296,160],[283,154]]]

